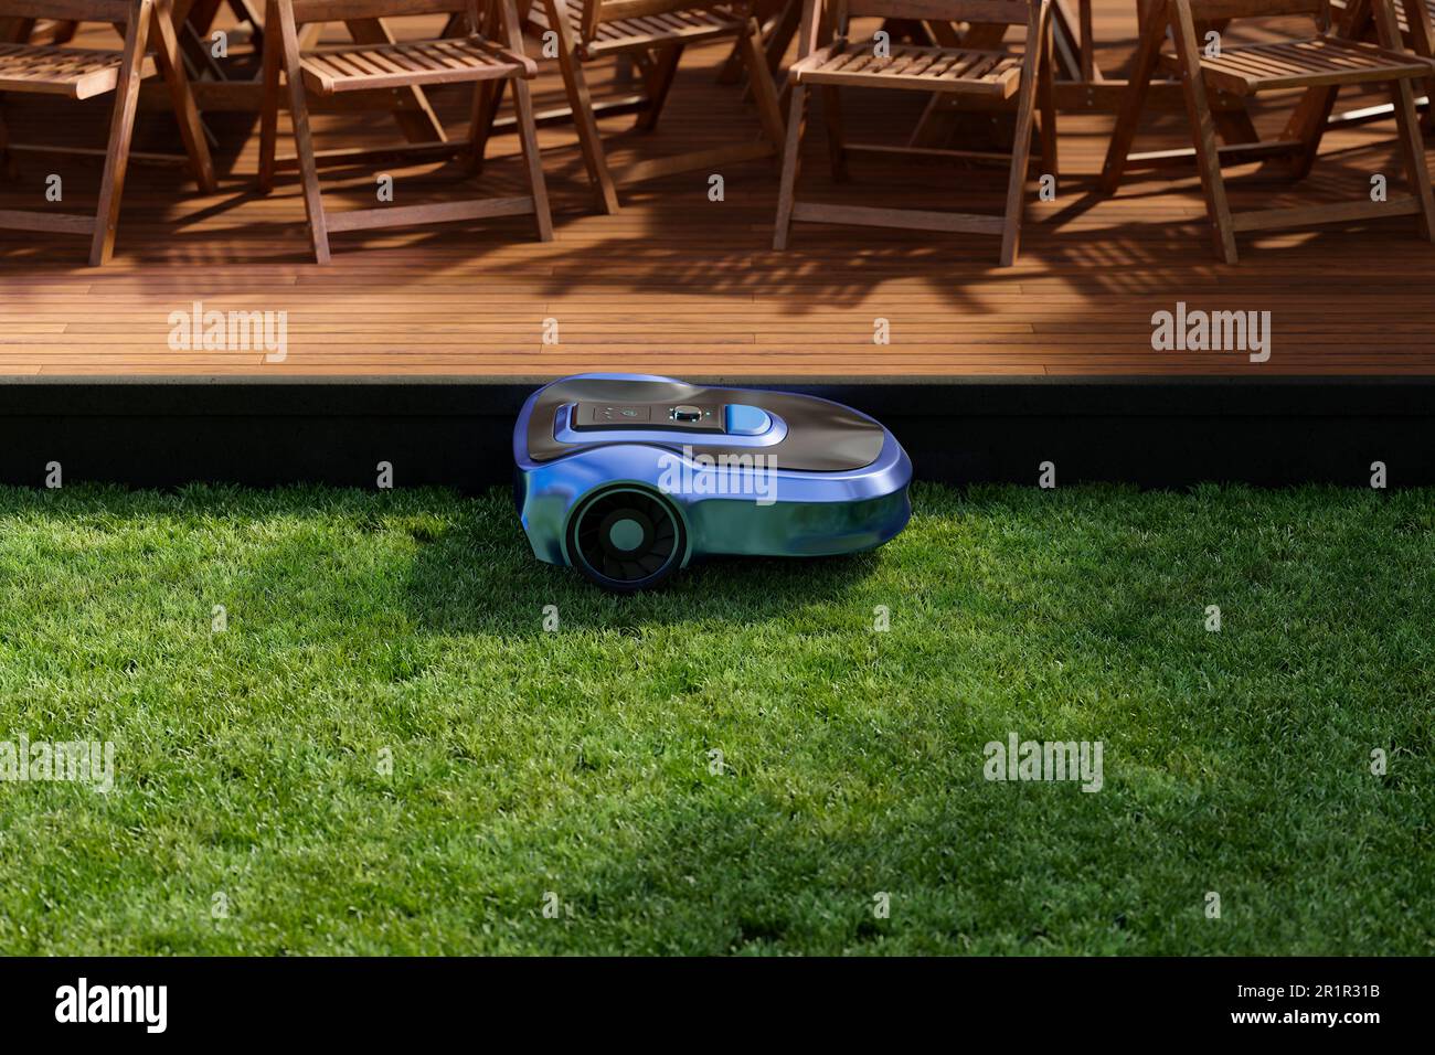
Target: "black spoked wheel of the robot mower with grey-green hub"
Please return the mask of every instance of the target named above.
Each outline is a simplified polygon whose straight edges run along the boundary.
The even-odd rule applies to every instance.
[[[573,566],[604,590],[630,593],[657,586],[677,570],[686,548],[683,521],[646,488],[600,491],[568,520]]]

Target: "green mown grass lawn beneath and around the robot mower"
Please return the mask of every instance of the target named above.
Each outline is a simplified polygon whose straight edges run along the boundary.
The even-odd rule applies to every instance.
[[[1435,953],[1435,492],[914,502],[611,597],[497,491],[0,489],[0,741],[116,751],[0,782],[0,950]]]

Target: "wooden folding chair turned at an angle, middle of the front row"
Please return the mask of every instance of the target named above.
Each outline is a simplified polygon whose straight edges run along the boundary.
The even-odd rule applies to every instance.
[[[542,14],[535,7],[530,19],[540,32],[551,29],[558,36],[563,82],[573,108],[583,161],[601,211],[618,211],[618,184],[772,156],[782,149],[782,111],[762,47],[762,30],[746,0],[726,4],[705,4],[699,0],[544,0]],[[647,52],[656,53],[654,60],[646,63],[647,106],[637,121],[640,131],[650,132],[673,85],[683,49],[710,40],[735,40],[740,46],[763,139],[610,169],[583,65],[606,55],[637,57]]]

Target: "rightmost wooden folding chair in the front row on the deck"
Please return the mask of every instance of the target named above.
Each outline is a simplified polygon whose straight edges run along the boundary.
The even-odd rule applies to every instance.
[[[1431,63],[1425,59],[1401,52],[1401,34],[1395,11],[1389,0],[1355,0],[1373,3],[1379,44],[1336,36],[1330,30],[1330,7],[1327,0],[1158,0],[1145,24],[1141,46],[1137,52],[1137,66],[1131,85],[1116,119],[1116,129],[1106,151],[1102,169],[1102,185],[1111,192],[1121,182],[1126,155],[1135,138],[1141,119],[1141,106],[1157,65],[1181,76],[1185,89],[1187,116],[1195,144],[1195,159],[1201,174],[1201,189],[1211,221],[1211,240],[1215,255],[1228,264],[1238,260],[1236,234],[1244,231],[1266,231],[1287,227],[1306,227],[1317,222],[1347,222],[1392,215],[1415,215],[1424,238],[1435,238],[1435,200],[1431,195],[1431,179],[1425,168],[1425,146],[1421,142],[1415,113],[1412,80],[1431,76]],[[1406,0],[1413,9],[1419,0]],[[1243,19],[1264,16],[1310,16],[1316,23],[1316,34],[1302,39],[1287,39],[1256,44],[1220,46],[1218,55],[1208,56],[1207,46],[1195,30],[1197,20]],[[1167,27],[1175,43],[1174,55],[1162,55]],[[1395,105],[1395,123],[1399,133],[1405,175],[1411,184],[1411,197],[1386,201],[1347,201],[1330,205],[1303,205],[1296,208],[1254,210],[1231,212],[1225,197],[1225,181],[1221,175],[1223,158],[1228,161],[1251,161],[1260,156],[1263,148],[1289,146],[1290,139],[1271,144],[1237,145],[1218,148],[1215,128],[1207,90],[1227,90],[1240,96],[1280,89],[1319,89],[1329,103],[1345,85],[1386,83]],[[1303,177],[1314,161],[1326,115],[1304,133],[1307,138],[1299,151],[1292,175]]]

